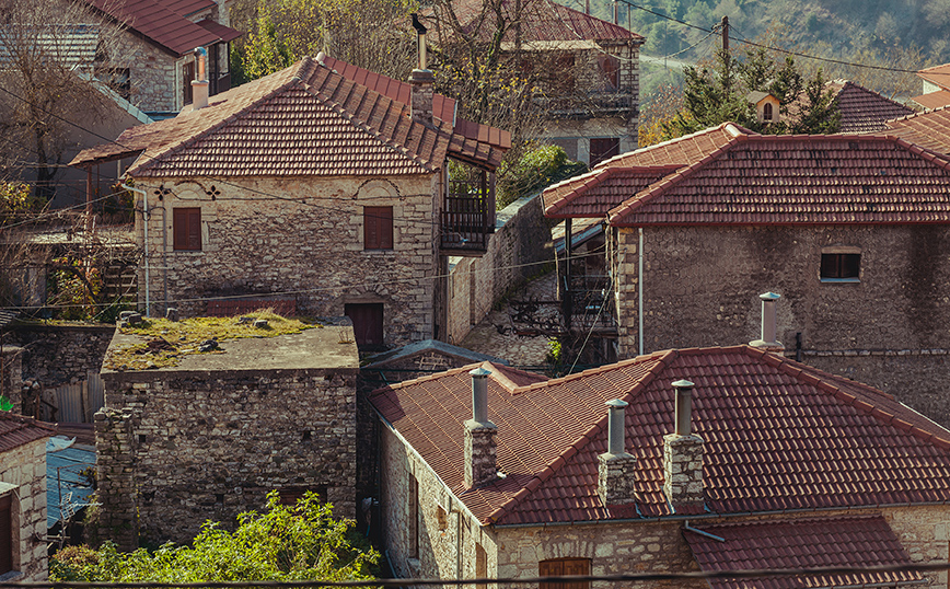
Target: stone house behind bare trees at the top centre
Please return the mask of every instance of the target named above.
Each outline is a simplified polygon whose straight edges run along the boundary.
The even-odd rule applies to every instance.
[[[496,4],[491,4],[496,5]],[[637,147],[640,46],[646,39],[626,27],[546,0],[500,2],[512,23],[501,50],[519,54],[521,70],[534,76],[535,101],[546,113],[545,142],[591,166]],[[467,35],[494,34],[489,4],[454,0]],[[616,7],[615,7],[616,8]],[[514,11],[520,11],[520,18]],[[476,27],[485,31],[476,33]]]

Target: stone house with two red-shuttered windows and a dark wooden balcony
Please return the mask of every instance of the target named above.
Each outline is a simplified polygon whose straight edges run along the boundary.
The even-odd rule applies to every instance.
[[[397,82],[327,56],[212,96],[74,165],[138,157],[140,303],[280,294],[348,315],[362,347],[444,339],[450,255],[484,254],[510,134],[456,118],[432,74]],[[475,181],[449,176],[448,162]]]

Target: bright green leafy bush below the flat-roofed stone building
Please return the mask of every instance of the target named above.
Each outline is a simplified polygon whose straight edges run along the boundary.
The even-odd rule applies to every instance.
[[[63,548],[50,558],[54,581],[224,582],[372,580],[379,553],[356,534],[351,520],[333,519],[332,507],[308,494],[296,506],[267,496],[263,513],[238,516],[234,532],[206,522],[192,546],[169,543],[154,552]]]

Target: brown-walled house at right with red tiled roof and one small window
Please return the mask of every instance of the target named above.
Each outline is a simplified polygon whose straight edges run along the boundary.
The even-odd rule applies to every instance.
[[[928,382],[950,359],[948,166],[891,136],[725,124],[623,155],[545,199],[548,215],[607,226],[618,358],[746,340],[755,294],[771,290],[787,354],[950,423]]]

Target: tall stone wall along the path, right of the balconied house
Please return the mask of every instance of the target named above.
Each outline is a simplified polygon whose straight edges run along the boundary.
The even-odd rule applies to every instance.
[[[495,234],[482,257],[452,258],[449,278],[449,343],[459,344],[512,288],[554,262],[551,228],[540,195],[498,212]]]

